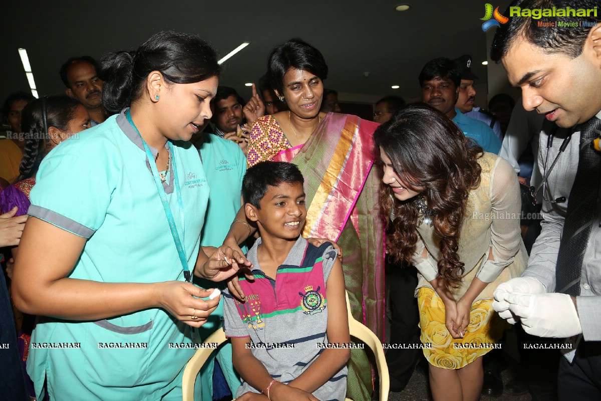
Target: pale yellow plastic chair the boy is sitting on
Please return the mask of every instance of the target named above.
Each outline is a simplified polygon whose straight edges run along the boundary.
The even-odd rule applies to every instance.
[[[388,401],[388,392],[390,390],[390,378],[388,376],[388,365],[386,364],[386,358],[384,357],[384,351],[382,349],[382,343],[379,338],[373,332],[365,327],[362,323],[359,323],[350,314],[350,303],[349,295],[346,295],[346,308],[349,311],[349,332],[351,337],[355,337],[361,340],[365,345],[370,347],[371,351],[376,356],[377,373],[380,379],[380,401]],[[225,337],[225,332],[222,327],[217,329],[213,334],[209,335],[209,338],[204,340],[204,343],[217,343],[218,346],[228,338]],[[186,369],[183,373],[182,380],[182,396],[183,401],[194,401],[194,383],[198,372],[201,367],[207,361],[209,356],[213,353],[215,348],[199,348],[194,356],[188,361]],[[346,401],[353,401],[349,398]]]

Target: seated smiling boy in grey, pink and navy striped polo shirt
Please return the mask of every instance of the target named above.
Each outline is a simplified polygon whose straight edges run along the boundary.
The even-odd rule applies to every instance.
[[[269,161],[249,168],[242,183],[246,216],[261,237],[246,256],[255,280],[240,278],[245,300],[224,294],[240,401],[343,400],[346,393],[342,265],[331,243],[317,247],[301,236],[303,183],[296,165]]]

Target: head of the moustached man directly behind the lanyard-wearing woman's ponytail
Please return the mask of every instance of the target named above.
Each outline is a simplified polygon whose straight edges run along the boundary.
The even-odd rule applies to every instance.
[[[79,100],[90,115],[91,126],[106,120],[102,106],[102,87],[105,82],[99,77],[100,66],[90,56],[72,57],[67,60],[59,74],[67,87],[65,93]]]

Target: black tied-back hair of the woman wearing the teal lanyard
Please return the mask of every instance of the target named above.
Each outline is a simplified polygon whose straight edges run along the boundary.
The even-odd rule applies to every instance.
[[[117,114],[144,96],[146,78],[153,71],[162,73],[167,82],[193,84],[219,76],[221,66],[215,49],[201,38],[158,32],[135,52],[117,52],[102,59],[106,111]]]

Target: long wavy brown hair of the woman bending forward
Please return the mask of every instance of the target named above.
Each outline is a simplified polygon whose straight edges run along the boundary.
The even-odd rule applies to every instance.
[[[424,189],[441,239],[438,273],[447,287],[457,287],[465,271],[457,254],[459,236],[469,191],[480,185],[482,148],[446,115],[423,103],[398,111],[376,129],[374,140],[376,152],[385,152],[404,182]],[[399,201],[390,186],[380,184],[390,256],[397,262],[411,263],[416,252],[417,198]]]

